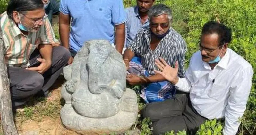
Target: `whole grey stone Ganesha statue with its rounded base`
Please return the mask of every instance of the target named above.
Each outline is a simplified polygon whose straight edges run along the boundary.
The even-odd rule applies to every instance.
[[[63,70],[67,82],[61,94],[66,104],[60,114],[67,128],[99,134],[124,131],[135,123],[137,96],[126,88],[122,56],[108,41],[85,42]]]

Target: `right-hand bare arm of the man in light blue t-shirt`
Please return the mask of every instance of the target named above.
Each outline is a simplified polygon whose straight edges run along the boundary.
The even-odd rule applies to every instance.
[[[120,24],[116,26],[115,31],[115,46],[116,50],[122,54],[122,50],[124,48],[124,41],[125,41],[125,24]]]

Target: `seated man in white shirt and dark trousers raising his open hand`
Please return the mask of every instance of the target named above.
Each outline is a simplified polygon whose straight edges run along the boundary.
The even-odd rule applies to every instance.
[[[156,60],[165,77],[175,87],[189,94],[148,104],[143,116],[153,122],[153,134],[187,130],[195,134],[200,124],[209,119],[225,118],[224,135],[235,135],[240,125],[252,85],[252,66],[228,48],[231,29],[214,21],[202,29],[200,51],[190,59],[185,78],[177,76],[178,63],[170,67]]]

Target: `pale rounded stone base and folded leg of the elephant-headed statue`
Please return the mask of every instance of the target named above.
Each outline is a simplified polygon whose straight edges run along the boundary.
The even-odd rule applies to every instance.
[[[138,103],[136,93],[126,89],[122,96],[120,111],[108,118],[89,118],[75,112],[71,104],[65,104],[60,116],[66,128],[83,135],[123,132],[128,130],[137,119]],[[88,108],[90,109],[90,108]]]

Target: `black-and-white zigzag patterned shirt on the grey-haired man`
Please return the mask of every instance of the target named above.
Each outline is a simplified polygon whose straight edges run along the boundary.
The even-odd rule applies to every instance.
[[[155,65],[155,59],[162,57],[171,66],[174,66],[175,62],[178,61],[178,76],[181,78],[185,77],[184,58],[187,45],[182,36],[170,28],[170,32],[161,39],[154,51],[150,49],[150,41],[151,30],[149,26],[145,26],[138,31],[128,47],[141,57],[141,64],[149,74],[155,74],[154,70],[159,70]]]

